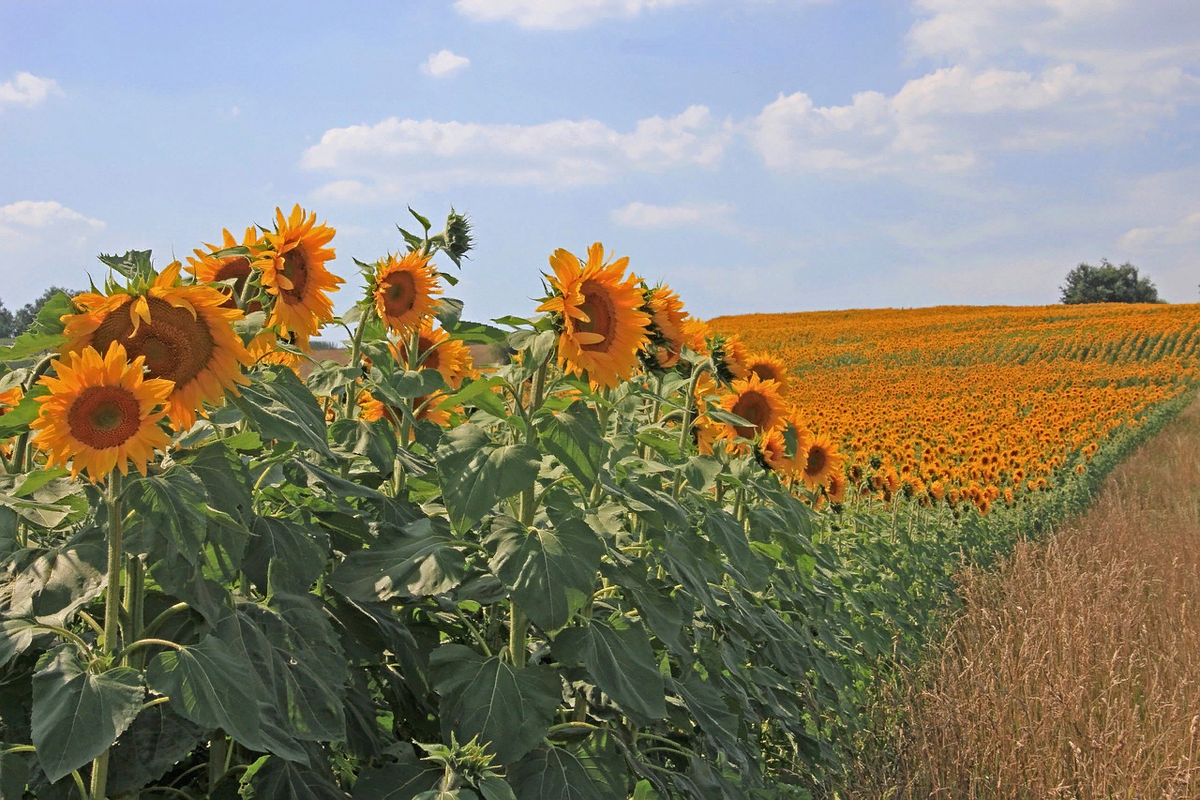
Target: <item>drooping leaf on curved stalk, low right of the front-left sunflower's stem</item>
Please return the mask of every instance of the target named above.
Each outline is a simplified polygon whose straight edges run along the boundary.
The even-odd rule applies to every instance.
[[[196,645],[164,650],[146,666],[146,682],[170,698],[172,709],[205,728],[222,728],[251,750],[266,750],[259,722],[251,663],[227,644],[206,636]],[[132,717],[130,717],[132,720]]]

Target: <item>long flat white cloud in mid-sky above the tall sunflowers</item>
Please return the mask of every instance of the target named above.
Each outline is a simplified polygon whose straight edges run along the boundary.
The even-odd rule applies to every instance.
[[[635,172],[712,167],[732,136],[732,124],[715,120],[703,106],[638,120],[628,132],[598,120],[496,125],[392,116],[326,131],[300,164],[332,174],[319,197],[379,201],[396,197],[401,186],[557,188],[607,184]]]

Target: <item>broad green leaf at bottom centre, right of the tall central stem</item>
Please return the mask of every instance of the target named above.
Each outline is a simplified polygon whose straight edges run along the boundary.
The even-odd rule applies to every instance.
[[[666,716],[666,690],[650,640],[637,625],[613,627],[592,620],[562,631],[551,651],[564,664],[583,664],[596,686],[641,724]]]

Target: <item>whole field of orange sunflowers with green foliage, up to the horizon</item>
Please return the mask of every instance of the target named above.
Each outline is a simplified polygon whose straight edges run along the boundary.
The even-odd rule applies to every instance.
[[[340,317],[296,206],[0,350],[0,795],[821,796],[962,560],[1194,379],[1188,307],[710,327],[600,243],[468,321],[412,213]]]

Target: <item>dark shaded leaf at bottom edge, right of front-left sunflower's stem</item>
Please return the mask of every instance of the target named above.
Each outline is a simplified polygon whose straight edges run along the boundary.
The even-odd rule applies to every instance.
[[[157,781],[196,750],[204,729],[166,705],[144,709],[113,747],[108,792],[136,792]]]

